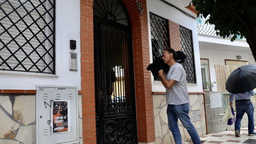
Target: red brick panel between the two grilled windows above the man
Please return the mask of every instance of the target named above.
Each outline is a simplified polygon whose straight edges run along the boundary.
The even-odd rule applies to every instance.
[[[170,47],[176,51],[181,50],[180,36],[179,36],[179,24],[168,20],[169,34],[170,34]]]

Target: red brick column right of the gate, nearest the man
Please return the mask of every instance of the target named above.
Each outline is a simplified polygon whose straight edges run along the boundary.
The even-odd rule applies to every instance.
[[[151,74],[146,70],[150,64],[147,5],[146,0],[138,2],[144,9],[142,15],[139,15],[135,0],[123,0],[132,27],[138,142],[150,143],[155,141],[155,132]]]

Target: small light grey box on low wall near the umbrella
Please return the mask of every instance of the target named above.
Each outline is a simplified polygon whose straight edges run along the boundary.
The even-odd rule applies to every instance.
[[[210,107],[211,108],[222,107],[222,91],[210,92]]]

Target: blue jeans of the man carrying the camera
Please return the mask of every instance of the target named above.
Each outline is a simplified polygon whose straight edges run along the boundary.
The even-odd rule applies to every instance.
[[[189,103],[181,105],[168,104],[167,106],[167,116],[168,116],[168,127],[173,133],[173,138],[176,144],[182,144],[182,138],[178,127],[178,118],[182,125],[187,129],[189,135],[195,144],[200,144],[200,138],[195,130],[195,127],[189,118]]]

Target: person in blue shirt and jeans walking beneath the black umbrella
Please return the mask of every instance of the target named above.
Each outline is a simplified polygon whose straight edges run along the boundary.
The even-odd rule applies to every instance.
[[[240,137],[240,127],[241,127],[241,120],[243,118],[243,114],[246,113],[248,116],[248,135],[255,136],[256,133],[254,132],[254,107],[251,102],[251,95],[255,95],[254,90],[250,90],[245,93],[233,94],[230,93],[229,104],[232,106],[233,99],[235,96],[236,99],[236,121],[235,121],[235,135]]]

